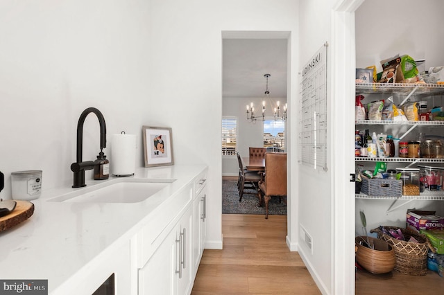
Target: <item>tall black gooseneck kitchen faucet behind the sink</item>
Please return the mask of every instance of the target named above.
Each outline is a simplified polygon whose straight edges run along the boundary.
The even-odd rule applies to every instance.
[[[83,154],[83,123],[85,123],[85,118],[89,113],[96,114],[97,118],[99,118],[100,124],[100,150],[106,147],[106,125],[105,118],[103,118],[102,113],[99,109],[95,107],[88,107],[83,111],[78,118],[77,124],[77,161],[76,163],[71,164],[71,171],[74,172],[74,184],[73,188],[82,188],[86,186],[85,184],[85,170],[91,170],[94,168],[94,161],[82,161]]]

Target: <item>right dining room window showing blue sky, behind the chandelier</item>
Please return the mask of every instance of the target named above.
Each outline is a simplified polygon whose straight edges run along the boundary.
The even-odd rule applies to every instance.
[[[284,120],[264,120],[264,147],[267,152],[285,151]]]

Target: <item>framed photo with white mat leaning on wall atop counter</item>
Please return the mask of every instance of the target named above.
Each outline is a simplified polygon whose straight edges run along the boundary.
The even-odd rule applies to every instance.
[[[144,126],[145,167],[173,165],[173,136],[169,127]]]

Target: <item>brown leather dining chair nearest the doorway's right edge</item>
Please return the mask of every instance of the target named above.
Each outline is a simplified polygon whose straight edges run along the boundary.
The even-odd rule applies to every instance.
[[[265,154],[265,172],[259,181],[259,206],[265,202],[265,219],[268,219],[268,202],[271,197],[287,197],[287,153],[267,152]],[[284,199],[287,202],[287,199]]]

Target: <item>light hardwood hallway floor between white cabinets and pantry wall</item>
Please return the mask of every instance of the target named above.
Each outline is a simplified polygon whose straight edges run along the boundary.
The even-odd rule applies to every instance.
[[[287,216],[222,215],[223,250],[205,249],[191,294],[321,294],[285,242]]]

